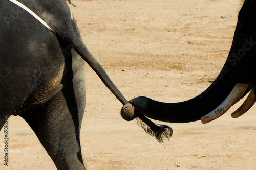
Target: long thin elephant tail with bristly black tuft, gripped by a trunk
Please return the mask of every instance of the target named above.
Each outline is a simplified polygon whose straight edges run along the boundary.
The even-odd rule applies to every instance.
[[[68,18],[66,23],[61,26],[61,29],[54,30],[56,35],[62,39],[62,41],[71,44],[72,48],[81,56],[81,58],[88,63],[88,65],[96,72],[101,81],[106,87],[116,96],[116,98],[123,104],[129,104],[129,102],[124,98],[122,93],[118,90],[115,84],[112,82],[106,71],[99,64],[96,58],[88,50],[86,44],[82,41],[79,30],[76,26],[75,20],[73,18]],[[132,108],[132,107],[131,107]],[[129,109],[128,109],[129,110]],[[126,109],[127,111],[127,109]],[[157,141],[164,142],[172,137],[173,129],[167,125],[156,125],[151,122],[150,119],[146,118],[143,114],[137,113],[132,114],[130,118],[125,118],[121,112],[121,116],[125,120],[137,119],[137,123],[142,127],[146,133],[155,137]]]

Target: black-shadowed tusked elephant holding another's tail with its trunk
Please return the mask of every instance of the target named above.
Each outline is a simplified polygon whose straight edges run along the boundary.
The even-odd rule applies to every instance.
[[[232,45],[219,76],[200,95],[179,103],[164,103],[139,96],[121,109],[126,120],[137,115],[169,123],[188,123],[201,119],[208,123],[228,111],[248,92],[244,103],[231,116],[237,118],[256,102],[256,1],[245,0],[238,15]]]

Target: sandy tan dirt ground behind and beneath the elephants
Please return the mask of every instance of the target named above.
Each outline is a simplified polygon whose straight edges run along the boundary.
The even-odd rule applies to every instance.
[[[219,74],[236,27],[239,0],[72,1],[82,38],[126,99],[180,102]],[[88,66],[81,128],[87,169],[255,169],[256,107],[238,119],[169,124],[166,145],[120,116],[121,103]],[[161,123],[163,124],[163,123]],[[1,136],[4,138],[3,130]],[[56,169],[20,117],[9,119],[9,162],[1,169]]]

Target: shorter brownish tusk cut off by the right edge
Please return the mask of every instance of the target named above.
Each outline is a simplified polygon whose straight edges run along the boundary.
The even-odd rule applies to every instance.
[[[254,93],[254,89],[255,86],[251,89],[250,94],[248,95],[248,97],[246,98],[246,100],[244,101],[244,103],[236,110],[234,111],[231,116],[233,118],[238,118],[241,115],[243,115],[244,113],[246,113],[256,102],[256,96]]]

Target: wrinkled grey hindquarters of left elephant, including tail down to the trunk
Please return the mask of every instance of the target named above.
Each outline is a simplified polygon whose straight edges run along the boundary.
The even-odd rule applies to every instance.
[[[79,133],[86,62],[123,104],[127,101],[83,44],[64,0],[19,2],[56,34],[27,11],[0,0],[0,127],[4,118],[21,116],[58,169],[84,169]]]

